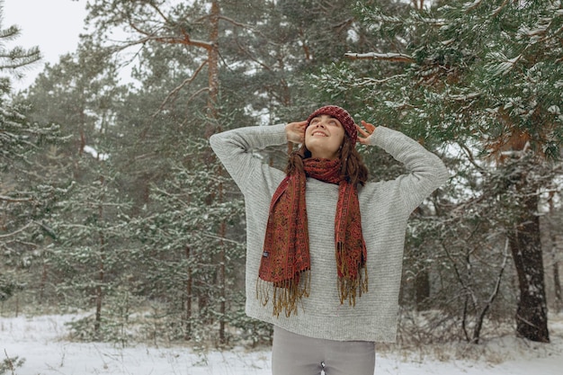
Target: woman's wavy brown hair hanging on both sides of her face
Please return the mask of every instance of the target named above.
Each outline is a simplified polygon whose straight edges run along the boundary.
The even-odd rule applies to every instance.
[[[297,151],[290,154],[288,164],[285,167],[285,173],[288,175],[305,173],[303,160],[309,157],[311,157],[311,152],[303,143]],[[368,180],[368,168],[363,164],[362,156],[347,134],[344,136],[344,141],[340,147],[339,158],[342,161],[341,176],[354,186],[366,183]]]

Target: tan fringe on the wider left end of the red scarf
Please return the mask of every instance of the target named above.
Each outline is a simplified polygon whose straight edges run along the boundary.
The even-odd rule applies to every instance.
[[[286,281],[271,282],[258,278],[256,281],[256,299],[266,306],[272,293],[273,315],[280,317],[281,311],[285,316],[296,314],[298,302],[303,297],[308,297],[311,287],[310,271],[303,271],[298,277]]]

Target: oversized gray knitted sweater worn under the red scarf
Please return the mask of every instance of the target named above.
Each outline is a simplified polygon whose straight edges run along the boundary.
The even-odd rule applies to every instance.
[[[369,291],[355,307],[340,303],[335,262],[335,210],[338,185],[307,179],[308,235],[311,258],[310,295],[297,314],[273,316],[256,298],[256,281],[273,192],[285,174],[264,164],[253,150],[287,142],[285,124],[228,130],[210,145],[243,192],[246,201],[246,314],[290,332],[348,341],[394,342],[398,293],[407,219],[448,178],[445,166],[416,141],[378,127],[371,146],[382,147],[403,163],[408,174],[358,188],[362,232],[367,246]]]

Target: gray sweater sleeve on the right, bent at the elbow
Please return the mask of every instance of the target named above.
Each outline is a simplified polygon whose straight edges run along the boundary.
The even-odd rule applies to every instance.
[[[384,149],[407,168],[407,174],[391,183],[398,185],[401,201],[405,202],[408,212],[415,210],[448,179],[448,170],[438,156],[398,130],[379,126],[371,136],[370,143],[371,146]]]

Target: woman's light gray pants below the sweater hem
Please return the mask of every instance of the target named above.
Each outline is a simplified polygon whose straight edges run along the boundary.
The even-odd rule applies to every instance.
[[[333,341],[273,328],[273,375],[373,375],[375,343]]]

